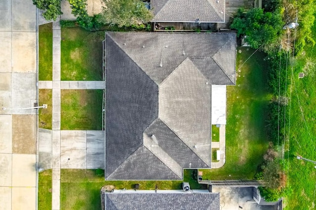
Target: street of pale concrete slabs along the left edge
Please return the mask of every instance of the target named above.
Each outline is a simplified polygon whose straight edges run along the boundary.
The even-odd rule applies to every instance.
[[[36,7],[31,0],[0,1],[0,209],[37,206],[35,110]]]

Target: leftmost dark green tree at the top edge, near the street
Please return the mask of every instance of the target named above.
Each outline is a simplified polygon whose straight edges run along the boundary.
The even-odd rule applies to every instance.
[[[60,0],[33,0],[33,4],[44,10],[43,17],[46,20],[53,19],[55,21],[58,15],[63,14],[60,8]]]

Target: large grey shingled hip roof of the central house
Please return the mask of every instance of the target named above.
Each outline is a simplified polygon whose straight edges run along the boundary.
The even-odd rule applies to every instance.
[[[211,86],[235,84],[235,45],[235,33],[106,33],[107,180],[210,168]]]

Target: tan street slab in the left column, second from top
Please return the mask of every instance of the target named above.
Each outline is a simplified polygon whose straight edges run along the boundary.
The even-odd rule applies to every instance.
[[[1,6],[1,4],[0,4]],[[1,10],[1,8],[0,8]],[[2,11],[0,12],[1,18]],[[3,21],[3,19],[0,19]],[[11,32],[0,31],[0,72],[11,72],[12,52],[11,52]]]

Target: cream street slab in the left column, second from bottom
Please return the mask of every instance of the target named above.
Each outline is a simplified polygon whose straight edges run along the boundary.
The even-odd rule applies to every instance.
[[[12,155],[0,153],[0,186],[11,186]]]

